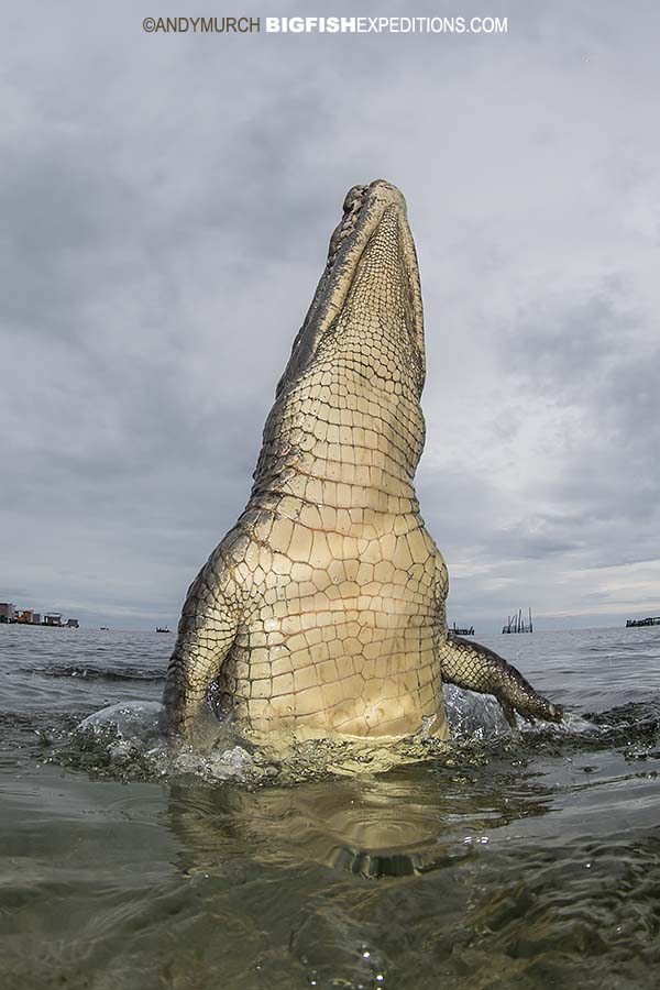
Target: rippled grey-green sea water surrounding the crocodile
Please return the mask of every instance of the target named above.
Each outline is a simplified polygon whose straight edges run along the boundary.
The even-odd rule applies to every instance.
[[[0,627],[2,990],[660,987],[660,628],[482,641],[568,724],[173,765],[172,637]]]

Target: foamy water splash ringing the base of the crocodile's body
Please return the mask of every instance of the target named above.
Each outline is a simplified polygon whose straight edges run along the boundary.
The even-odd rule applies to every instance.
[[[227,723],[209,719],[212,725],[204,744],[191,747],[173,746],[163,737],[160,703],[122,702],[95,712],[77,726],[64,761],[72,768],[121,779],[193,777],[209,783],[234,781],[251,787],[276,781],[288,785],[323,777],[384,773],[410,763],[452,766],[457,751],[462,750],[487,761],[487,749],[512,739],[512,729],[493,697],[450,685],[446,707],[452,744],[420,734],[396,743],[285,737],[255,745]],[[561,726],[540,724],[531,729],[520,722],[525,732],[551,732],[553,737],[580,733],[585,726],[593,729],[579,716],[568,716]]]

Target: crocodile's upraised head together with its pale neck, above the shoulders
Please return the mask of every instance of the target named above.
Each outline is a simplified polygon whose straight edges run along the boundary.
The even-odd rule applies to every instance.
[[[417,260],[398,190],[383,182],[358,189],[358,207],[346,197],[266,420],[252,506],[290,496],[334,508],[417,510],[425,435]]]

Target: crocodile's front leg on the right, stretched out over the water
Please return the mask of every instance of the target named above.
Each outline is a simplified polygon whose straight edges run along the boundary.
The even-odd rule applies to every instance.
[[[487,647],[448,634],[440,645],[439,659],[443,681],[495,695],[510,726],[516,723],[515,712],[528,722],[561,722],[563,717],[559,705],[538,694],[519,670]]]

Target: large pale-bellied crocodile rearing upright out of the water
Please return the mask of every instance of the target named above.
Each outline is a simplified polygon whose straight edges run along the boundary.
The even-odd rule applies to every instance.
[[[250,502],[190,586],[169,733],[215,685],[243,730],[448,735],[442,681],[561,718],[501,657],[448,636],[447,566],[419,514],[421,293],[404,197],[356,186],[266,420]]]

